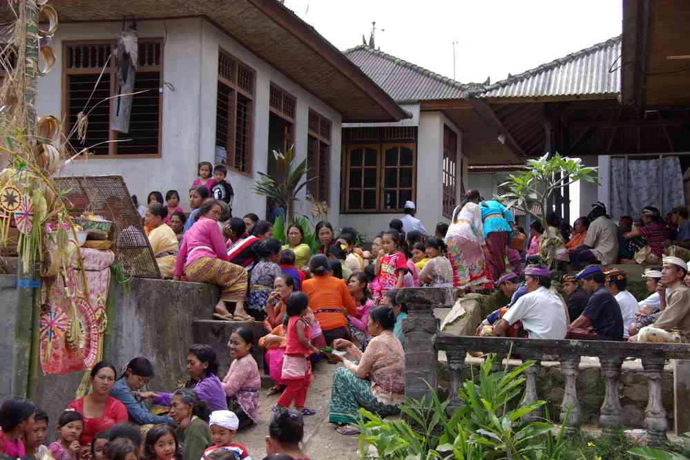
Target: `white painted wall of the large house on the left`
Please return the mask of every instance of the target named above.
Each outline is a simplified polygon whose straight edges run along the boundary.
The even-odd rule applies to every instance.
[[[53,44],[57,55],[55,69],[39,79],[38,112],[61,115],[62,111],[62,41],[115,39],[121,23],[67,23],[59,27]],[[271,82],[297,98],[295,146],[301,160],[307,153],[307,117],[309,108],[332,122],[332,222],[339,222],[339,177],[341,163],[341,115],[321,102],[305,88],[282,75],[265,61],[241,46],[203,19],[141,21],[139,37],[164,37],[164,81],[175,91],[164,88],[162,102],[162,157],[127,159],[126,157],[90,157],[67,166],[63,175],[120,174],[130,193],[140,202],[150,191],[165,193],[177,189],[182,206],[186,192],[196,178],[200,161],[213,162],[215,147],[215,104],[218,75],[218,50],[223,48],[256,72],[253,133],[253,178],[265,171],[268,159],[269,87]],[[265,198],[250,191],[253,178],[230,173],[235,189],[234,215],[256,212],[265,215]]]

